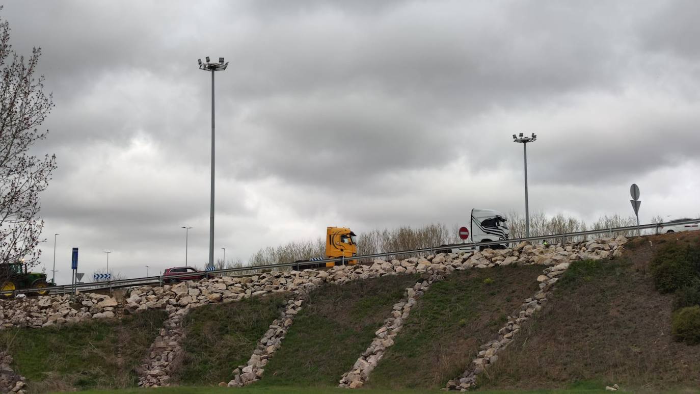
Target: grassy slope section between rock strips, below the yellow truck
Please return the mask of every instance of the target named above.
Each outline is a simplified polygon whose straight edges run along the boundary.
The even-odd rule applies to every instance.
[[[383,276],[314,290],[255,386],[337,385],[416,280]]]

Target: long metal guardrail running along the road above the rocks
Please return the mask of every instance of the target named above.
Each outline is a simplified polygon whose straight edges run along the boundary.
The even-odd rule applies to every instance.
[[[361,259],[370,259],[370,258],[381,258],[381,257],[386,257],[393,255],[411,255],[411,254],[416,254],[416,253],[435,253],[435,251],[446,249],[446,248],[457,248],[457,247],[472,247],[472,248],[479,248],[481,246],[493,246],[493,245],[503,245],[503,244],[512,244],[512,243],[519,243],[522,241],[541,241],[543,239],[564,239],[566,237],[581,237],[585,235],[593,235],[593,234],[603,234],[603,233],[608,233],[610,236],[612,236],[612,233],[614,232],[629,232],[629,231],[635,231],[635,230],[648,230],[648,229],[657,229],[657,233],[661,227],[666,227],[670,225],[689,225],[689,224],[695,224],[695,223],[700,223],[700,219],[690,219],[690,220],[683,220],[683,221],[677,221],[673,223],[652,223],[649,225],[640,225],[640,226],[627,226],[627,227],[610,227],[607,229],[601,229],[601,230],[587,230],[587,231],[580,231],[580,232],[570,232],[570,233],[563,233],[563,234],[549,234],[549,235],[541,235],[538,237],[521,237],[521,238],[515,238],[515,239],[507,239],[506,241],[489,241],[489,242],[469,242],[469,243],[464,243],[464,244],[449,244],[449,245],[441,245],[441,246],[433,246],[431,248],[421,248],[421,249],[412,249],[409,251],[395,251],[395,252],[384,252],[384,253],[373,253],[370,255],[361,255],[361,256],[353,256],[351,258],[330,258],[330,259],[325,259],[325,260],[316,260],[316,261],[304,261],[304,262],[283,262],[279,264],[272,264],[272,265],[253,265],[250,267],[240,267],[240,268],[227,268],[227,269],[217,269],[215,271],[209,271],[209,272],[201,272],[201,274],[204,274],[204,277],[209,277],[209,276],[217,276],[218,274],[233,274],[233,275],[227,275],[227,276],[249,276],[249,274],[239,274],[236,275],[236,272],[246,272],[246,271],[257,271],[257,270],[269,270],[269,269],[276,269],[276,268],[302,268],[302,267],[307,267],[309,265],[316,266],[318,264],[323,264],[326,262],[340,262],[342,265],[345,264],[345,260],[361,260]],[[633,237],[633,236],[632,236]],[[151,286],[151,285],[162,285],[163,283],[167,283],[168,281],[172,279],[178,279],[178,278],[186,278],[189,276],[195,276],[197,274],[193,273],[183,273],[183,274],[176,274],[176,275],[168,275],[168,276],[147,276],[144,278],[135,278],[135,279],[120,279],[118,281],[106,281],[106,282],[94,282],[94,283],[81,283],[81,284],[76,284],[76,285],[62,285],[62,286],[52,286],[52,287],[46,287],[46,288],[30,288],[30,289],[22,289],[22,290],[14,290],[15,294],[18,293],[36,293],[38,290],[48,290],[49,293],[71,293],[73,290],[104,290],[104,289],[110,289],[110,288],[125,288],[125,287],[132,287],[132,286]]]

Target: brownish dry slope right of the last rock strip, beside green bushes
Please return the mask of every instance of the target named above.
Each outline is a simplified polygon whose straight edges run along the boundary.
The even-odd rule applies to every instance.
[[[666,242],[697,242],[698,232],[639,239],[624,259],[580,262],[547,307],[506,351],[484,388],[556,388],[571,381],[657,392],[700,388],[700,346],[671,338],[671,295],[659,295],[647,267]],[[649,244],[652,241],[652,245]]]

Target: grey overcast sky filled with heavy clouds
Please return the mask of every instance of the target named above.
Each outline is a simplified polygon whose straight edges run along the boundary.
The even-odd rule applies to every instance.
[[[143,276],[204,265],[210,77],[216,257],[470,209],[591,222],[697,216],[697,1],[5,1],[15,50],[41,46],[56,104],[38,150],[42,264]]]

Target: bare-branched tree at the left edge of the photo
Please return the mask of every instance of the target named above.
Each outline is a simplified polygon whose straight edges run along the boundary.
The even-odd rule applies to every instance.
[[[1,7],[0,7],[1,9]],[[10,25],[0,20],[0,263],[36,265],[43,228],[38,216],[39,194],[56,168],[55,155],[29,152],[46,138],[39,131],[54,104],[43,92],[43,76],[36,76],[40,48],[25,59],[10,45]]]

